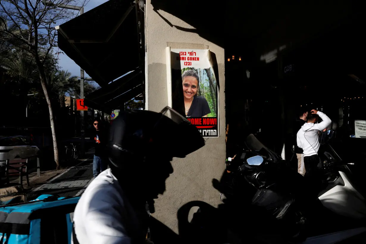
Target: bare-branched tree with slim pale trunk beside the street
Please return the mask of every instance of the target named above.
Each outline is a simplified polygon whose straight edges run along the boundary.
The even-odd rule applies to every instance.
[[[83,7],[88,0],[79,0]],[[65,5],[75,5],[74,0],[0,0],[0,41],[8,46],[0,47],[0,53],[14,46],[14,52],[30,53],[30,57],[37,65],[39,78],[48,104],[53,150],[55,162],[59,167],[58,149],[56,141],[55,121],[53,116],[51,91],[49,92],[49,75],[47,62],[52,62],[52,50],[57,46],[57,31],[53,28],[75,16],[72,10],[63,8]],[[77,14],[76,14],[77,15]],[[4,18],[4,19],[3,19]],[[3,27],[4,26],[4,27]],[[20,51],[22,50],[22,51]],[[23,70],[25,74],[32,70]],[[63,98],[64,92],[60,93]]]

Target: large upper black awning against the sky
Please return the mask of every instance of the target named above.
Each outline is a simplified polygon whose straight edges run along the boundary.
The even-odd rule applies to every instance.
[[[110,0],[56,29],[59,48],[101,87],[139,67],[138,22],[132,0]]]

